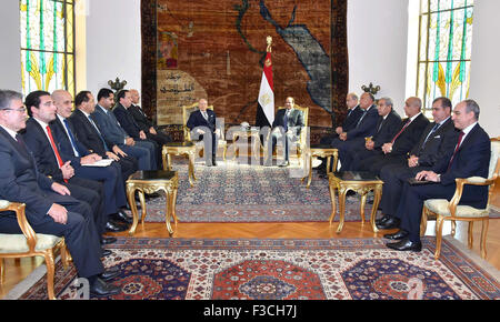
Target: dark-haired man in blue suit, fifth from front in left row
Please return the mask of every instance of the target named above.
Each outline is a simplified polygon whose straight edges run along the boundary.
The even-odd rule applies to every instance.
[[[139,170],[157,170],[156,154],[141,147],[130,138],[120,127],[117,118],[111,111],[114,104],[114,93],[110,89],[100,89],[98,93],[98,104],[91,114],[98,124],[102,137],[107,142],[118,145],[123,152],[136,158],[139,162]],[[137,144],[136,144],[137,143]]]

